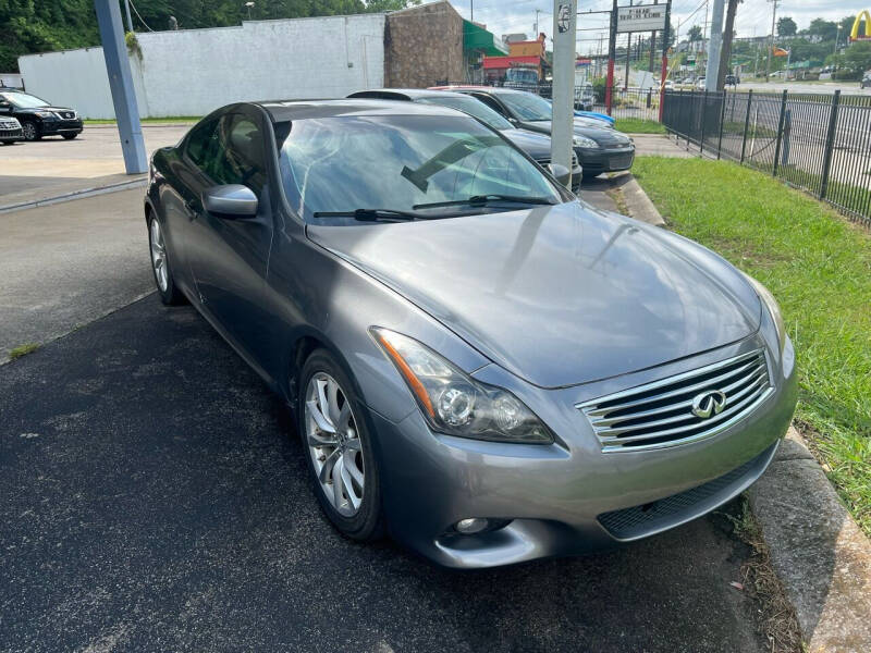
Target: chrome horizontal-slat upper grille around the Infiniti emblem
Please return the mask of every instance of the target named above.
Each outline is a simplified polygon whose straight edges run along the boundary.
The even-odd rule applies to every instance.
[[[635,452],[715,435],[755,410],[772,392],[765,354],[757,349],[577,408],[592,424],[603,452]],[[712,402],[706,401],[712,393],[720,411],[712,409],[709,417],[699,417],[697,412],[712,408]],[[703,405],[694,405],[697,399]]]

